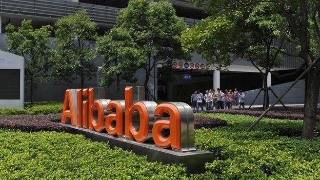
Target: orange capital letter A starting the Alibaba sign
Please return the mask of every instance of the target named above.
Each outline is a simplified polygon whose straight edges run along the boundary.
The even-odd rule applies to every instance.
[[[72,99],[71,89],[67,89],[65,94],[65,101],[64,101],[63,111],[62,111],[61,122],[68,124],[69,123],[67,122],[67,117],[68,117],[71,119],[71,124],[73,126],[76,126],[76,120],[75,120],[75,114],[74,114],[75,109],[74,109],[72,100],[73,99]]]

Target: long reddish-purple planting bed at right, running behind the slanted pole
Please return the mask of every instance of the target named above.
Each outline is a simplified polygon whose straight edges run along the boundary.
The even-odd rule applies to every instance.
[[[264,111],[262,108],[247,109],[218,109],[212,111],[205,111],[204,113],[226,113],[226,114],[244,114],[259,117]],[[277,119],[303,119],[304,107],[303,106],[288,106],[287,110],[283,107],[274,107],[267,113],[267,117]],[[318,105],[317,120],[320,121],[320,105]]]

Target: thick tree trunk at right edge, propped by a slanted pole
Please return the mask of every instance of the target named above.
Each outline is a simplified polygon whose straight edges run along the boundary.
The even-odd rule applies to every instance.
[[[314,135],[317,105],[320,89],[320,66],[311,69],[306,75],[306,96],[302,139],[311,139]]]

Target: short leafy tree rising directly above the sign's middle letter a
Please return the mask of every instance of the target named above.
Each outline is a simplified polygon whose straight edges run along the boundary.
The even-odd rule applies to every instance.
[[[116,98],[119,97],[120,82],[135,83],[134,73],[145,63],[146,56],[124,28],[114,27],[97,41],[97,52],[104,59],[102,78],[104,86],[116,82]],[[115,78],[114,78],[115,76]]]

